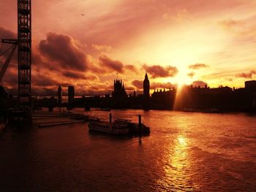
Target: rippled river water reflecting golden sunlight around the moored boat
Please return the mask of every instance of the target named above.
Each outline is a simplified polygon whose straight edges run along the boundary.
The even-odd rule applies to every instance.
[[[77,110],[79,111],[79,110]],[[81,112],[81,110],[80,110]],[[151,127],[113,137],[88,123],[8,129],[0,138],[0,191],[256,191],[256,117],[112,110]],[[109,112],[92,115],[108,119]]]

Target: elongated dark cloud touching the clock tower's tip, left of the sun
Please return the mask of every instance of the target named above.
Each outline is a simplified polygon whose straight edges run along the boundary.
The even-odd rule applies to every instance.
[[[157,77],[174,77],[178,73],[178,69],[176,66],[147,66],[143,65],[143,69],[146,70],[149,74],[151,74],[152,78]]]

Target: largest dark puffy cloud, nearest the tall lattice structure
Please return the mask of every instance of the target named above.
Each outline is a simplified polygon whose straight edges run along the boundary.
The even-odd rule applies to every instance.
[[[56,68],[76,71],[88,68],[88,58],[67,35],[48,33],[46,39],[39,42],[39,51],[50,61],[56,61],[59,64]]]

